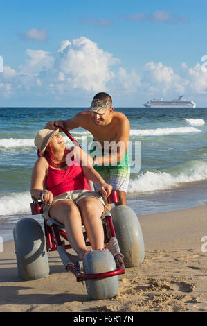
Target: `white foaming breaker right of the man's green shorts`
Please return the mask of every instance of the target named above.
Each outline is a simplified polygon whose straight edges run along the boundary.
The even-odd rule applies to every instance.
[[[177,173],[147,171],[130,180],[127,192],[147,192],[176,187],[181,183],[201,181],[207,178],[207,162],[192,161],[183,164]]]

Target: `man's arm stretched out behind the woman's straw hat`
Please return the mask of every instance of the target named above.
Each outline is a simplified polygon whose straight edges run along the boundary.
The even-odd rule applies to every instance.
[[[84,112],[80,112],[78,114],[75,114],[75,116],[71,119],[49,121],[48,123],[46,123],[46,126],[44,128],[56,130],[57,127],[55,127],[55,125],[58,125],[64,127],[66,130],[72,130],[82,126],[82,122],[84,121],[85,116],[86,114],[84,114]]]

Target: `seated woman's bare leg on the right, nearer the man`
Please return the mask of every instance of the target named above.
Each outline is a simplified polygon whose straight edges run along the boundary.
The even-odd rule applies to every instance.
[[[78,200],[77,206],[80,209],[92,249],[104,248],[104,231],[101,221],[104,206],[100,200],[93,197],[84,197]]]

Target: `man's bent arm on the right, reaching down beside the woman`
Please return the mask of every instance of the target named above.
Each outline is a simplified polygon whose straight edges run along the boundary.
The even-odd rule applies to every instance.
[[[130,131],[130,124],[127,117],[122,118],[120,123],[117,126],[117,134],[116,139],[110,142],[110,148],[112,153],[109,155],[105,155],[102,157],[95,157],[94,163],[96,165],[102,164],[116,164],[120,162],[125,157],[125,153],[127,151],[128,143],[129,143],[129,131]]]

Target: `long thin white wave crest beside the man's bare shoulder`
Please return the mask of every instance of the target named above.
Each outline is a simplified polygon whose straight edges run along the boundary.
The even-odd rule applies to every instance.
[[[157,129],[131,129],[131,136],[161,136],[172,134],[184,134],[190,132],[201,132],[194,127],[178,127],[178,128],[157,128]]]

